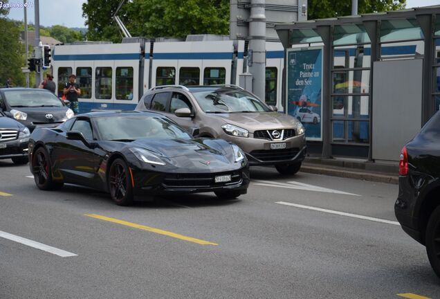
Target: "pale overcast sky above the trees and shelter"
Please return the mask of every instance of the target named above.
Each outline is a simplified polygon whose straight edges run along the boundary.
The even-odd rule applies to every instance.
[[[33,0],[26,0],[34,3]],[[40,0],[39,24],[42,26],[63,25],[66,27],[85,27],[82,17],[82,3],[85,0]],[[9,0],[9,3],[23,3],[22,0]],[[440,5],[440,0],[406,0],[407,8]],[[28,23],[35,23],[35,10],[28,8]],[[10,19],[23,20],[23,8],[11,8]],[[109,21],[111,16],[109,16]]]

